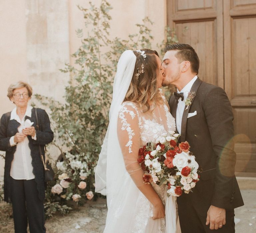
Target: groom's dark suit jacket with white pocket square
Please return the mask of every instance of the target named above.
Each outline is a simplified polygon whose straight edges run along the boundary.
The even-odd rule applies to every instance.
[[[202,82],[199,78],[191,91],[196,96],[183,112],[181,141],[189,142],[190,151],[195,155],[202,173],[193,192],[183,193],[177,202],[180,207],[180,204],[190,201],[197,213],[206,217],[210,205],[234,209],[244,203],[234,175],[233,112],[228,97],[222,88]],[[175,119],[177,104],[172,96],[169,106]],[[195,111],[195,116],[187,118],[188,113]]]

